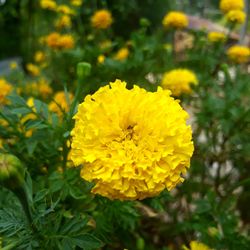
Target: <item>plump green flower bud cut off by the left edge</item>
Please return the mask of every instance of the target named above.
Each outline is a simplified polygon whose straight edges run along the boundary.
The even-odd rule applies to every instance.
[[[21,161],[11,154],[0,154],[0,185],[14,190],[24,183],[25,169]]]

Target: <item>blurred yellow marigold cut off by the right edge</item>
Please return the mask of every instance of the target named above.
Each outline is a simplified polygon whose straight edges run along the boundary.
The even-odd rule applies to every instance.
[[[250,57],[250,49],[241,45],[234,45],[227,50],[228,57],[236,63],[246,63]]]

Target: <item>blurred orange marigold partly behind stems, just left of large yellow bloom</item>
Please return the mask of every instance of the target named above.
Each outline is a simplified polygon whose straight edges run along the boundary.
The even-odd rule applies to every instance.
[[[61,116],[63,112],[69,111],[70,103],[72,102],[72,100],[73,95],[71,93],[65,95],[64,91],[59,91],[54,95],[53,101],[50,102],[49,110]]]

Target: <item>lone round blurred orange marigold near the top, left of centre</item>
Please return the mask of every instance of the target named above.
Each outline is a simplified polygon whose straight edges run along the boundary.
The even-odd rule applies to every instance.
[[[113,22],[108,10],[98,10],[91,17],[91,24],[96,29],[107,29]]]

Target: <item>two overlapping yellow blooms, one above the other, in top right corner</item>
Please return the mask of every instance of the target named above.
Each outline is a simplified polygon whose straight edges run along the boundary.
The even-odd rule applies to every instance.
[[[221,0],[220,9],[226,14],[226,19],[229,22],[241,24],[246,19],[244,0]]]

